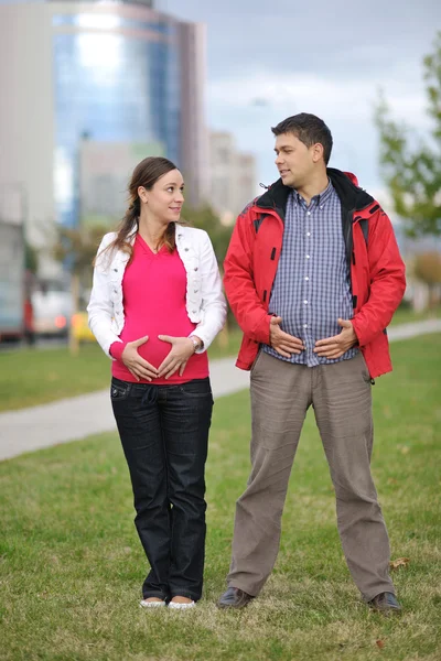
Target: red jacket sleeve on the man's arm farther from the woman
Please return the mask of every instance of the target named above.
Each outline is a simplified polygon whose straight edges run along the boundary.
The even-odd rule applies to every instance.
[[[406,290],[406,269],[392,225],[379,210],[369,220],[367,239],[370,292],[352,319],[359,346],[369,344],[390,324]]]

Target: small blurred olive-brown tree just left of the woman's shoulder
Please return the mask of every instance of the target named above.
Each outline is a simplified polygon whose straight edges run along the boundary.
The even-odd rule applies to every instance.
[[[72,308],[78,310],[80,286],[88,286],[92,278],[92,264],[103,235],[107,227],[90,226],[68,228],[56,226],[56,239],[53,248],[55,259],[62,262],[71,273]],[[78,353],[78,340],[73,328],[69,329],[69,349]]]

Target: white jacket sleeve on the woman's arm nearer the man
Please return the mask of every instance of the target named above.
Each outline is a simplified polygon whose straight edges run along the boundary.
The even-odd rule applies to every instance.
[[[206,232],[201,247],[200,269],[202,286],[203,321],[190,335],[197,335],[204,343],[196,354],[205,351],[222,330],[227,316],[227,304],[222,291],[222,279],[212,241]]]

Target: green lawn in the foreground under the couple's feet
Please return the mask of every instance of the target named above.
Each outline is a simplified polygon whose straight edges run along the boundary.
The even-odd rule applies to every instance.
[[[247,609],[216,609],[249,470],[241,392],[215,404],[205,594],[194,611],[138,607],[147,567],[116,434],[0,465],[2,661],[439,661],[441,335],[397,343],[392,357],[395,371],[374,387],[373,469],[392,559],[410,559],[394,574],[400,618],[370,613],[351,581],[311,415],[276,570]]]

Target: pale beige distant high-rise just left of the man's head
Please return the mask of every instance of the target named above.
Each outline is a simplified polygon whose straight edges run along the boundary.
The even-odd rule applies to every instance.
[[[256,158],[237,150],[228,132],[209,134],[209,202],[223,223],[233,223],[258,194]]]

